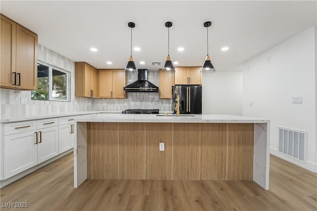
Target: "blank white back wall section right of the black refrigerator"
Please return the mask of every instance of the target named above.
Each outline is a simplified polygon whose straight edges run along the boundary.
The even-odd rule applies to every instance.
[[[203,114],[242,115],[242,72],[203,74]]]

